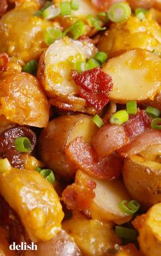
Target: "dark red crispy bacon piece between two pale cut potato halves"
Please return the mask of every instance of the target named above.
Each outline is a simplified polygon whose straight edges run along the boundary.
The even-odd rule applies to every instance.
[[[112,78],[98,68],[82,72],[72,71],[72,78],[78,86],[78,94],[97,111],[108,103],[109,92],[113,89]]]

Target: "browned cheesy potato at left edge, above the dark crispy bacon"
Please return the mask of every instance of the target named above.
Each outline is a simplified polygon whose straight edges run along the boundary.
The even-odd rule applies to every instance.
[[[38,80],[29,73],[4,73],[0,79],[0,114],[19,125],[45,127],[49,104]]]

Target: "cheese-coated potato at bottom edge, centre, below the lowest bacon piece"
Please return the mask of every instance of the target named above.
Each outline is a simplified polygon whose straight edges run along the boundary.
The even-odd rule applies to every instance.
[[[63,221],[63,229],[72,235],[76,244],[85,256],[102,256],[120,244],[111,223],[89,220],[81,214],[74,214],[72,218]]]

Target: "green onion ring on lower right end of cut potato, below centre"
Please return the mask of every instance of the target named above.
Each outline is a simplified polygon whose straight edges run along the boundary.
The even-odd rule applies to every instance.
[[[128,215],[135,214],[138,211],[138,209],[140,208],[140,206],[141,205],[135,200],[132,200],[130,202],[123,200],[119,204],[119,208],[121,209],[121,211],[125,212]]]

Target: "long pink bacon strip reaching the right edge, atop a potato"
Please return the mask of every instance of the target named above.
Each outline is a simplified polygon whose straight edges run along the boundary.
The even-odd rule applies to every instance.
[[[129,157],[130,155],[136,155],[141,151],[144,151],[147,146],[160,144],[161,132],[148,129],[144,133],[137,136],[128,146],[124,146],[119,153],[123,157]]]

